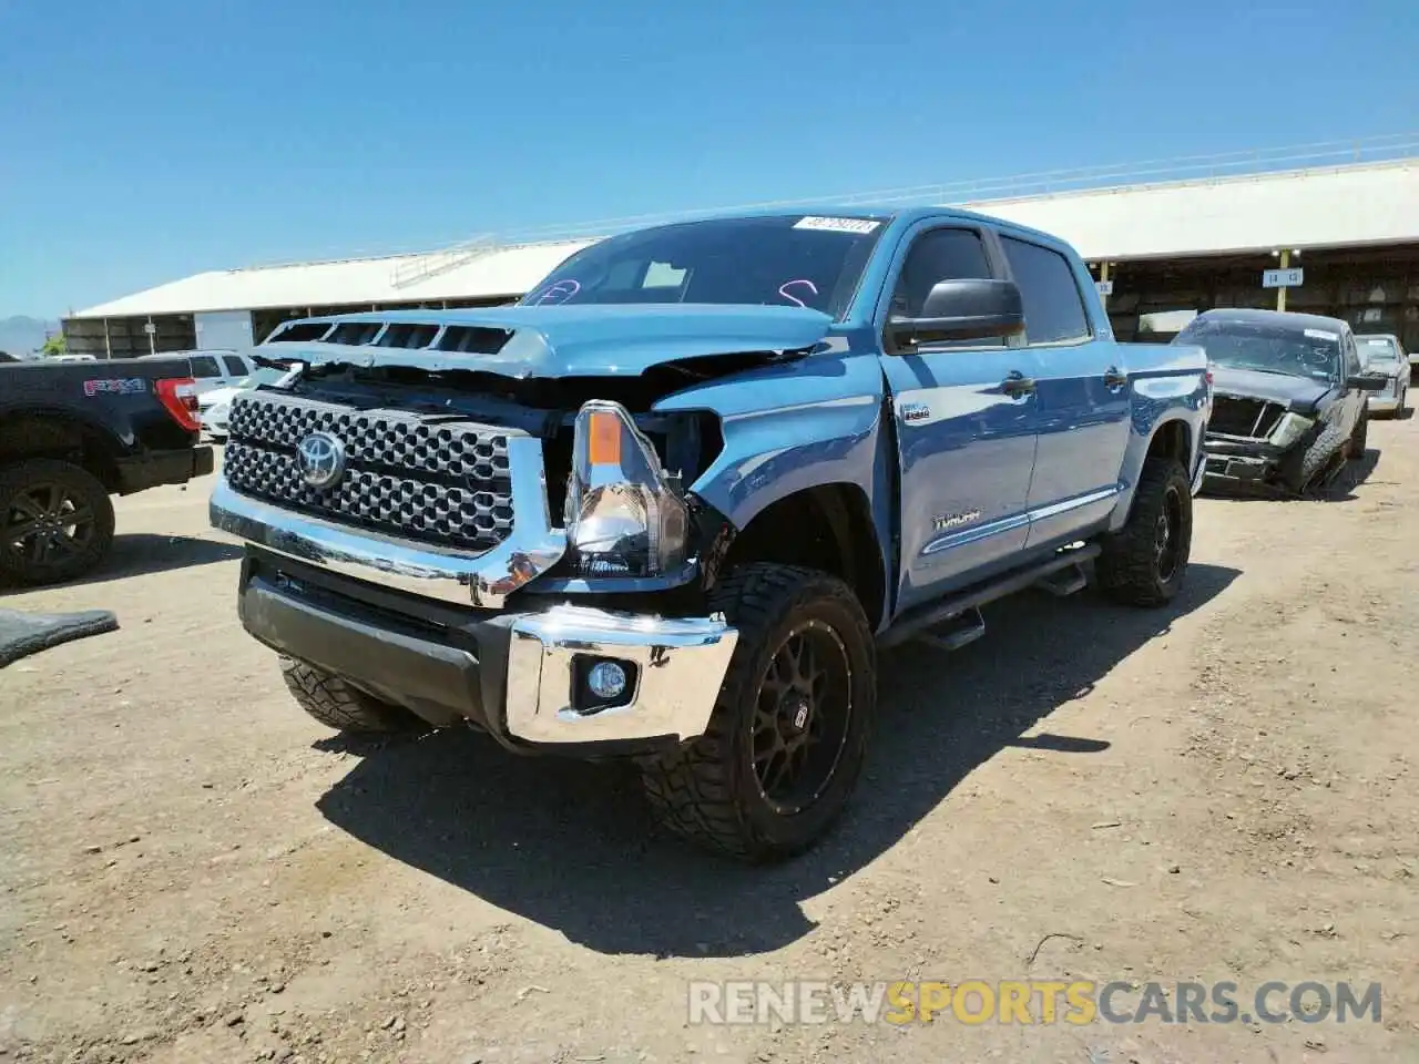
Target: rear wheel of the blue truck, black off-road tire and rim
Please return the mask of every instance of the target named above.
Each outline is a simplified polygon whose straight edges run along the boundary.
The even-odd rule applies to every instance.
[[[1100,590],[1128,606],[1162,606],[1182,587],[1192,553],[1192,485],[1176,458],[1148,458],[1134,508],[1094,562]]]

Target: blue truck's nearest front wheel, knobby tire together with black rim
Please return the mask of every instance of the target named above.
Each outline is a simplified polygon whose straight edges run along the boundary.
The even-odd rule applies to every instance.
[[[702,736],[641,765],[675,834],[738,860],[809,848],[846,807],[877,708],[877,648],[834,576],[753,563],[712,596],[739,630]]]

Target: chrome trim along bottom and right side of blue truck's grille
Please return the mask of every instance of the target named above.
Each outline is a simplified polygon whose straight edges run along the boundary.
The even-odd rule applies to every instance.
[[[542,471],[542,441],[508,440],[512,533],[481,555],[382,536],[261,502],[221,477],[211,492],[214,528],[332,573],[460,606],[501,609],[504,600],[551,569],[566,552],[566,532],[552,528]]]

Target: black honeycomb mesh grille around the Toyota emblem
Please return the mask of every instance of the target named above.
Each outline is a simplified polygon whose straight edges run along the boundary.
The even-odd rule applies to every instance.
[[[508,430],[257,392],[231,404],[223,471],[240,492],[407,539],[487,550],[512,532]],[[345,475],[307,484],[297,448],[322,431]]]

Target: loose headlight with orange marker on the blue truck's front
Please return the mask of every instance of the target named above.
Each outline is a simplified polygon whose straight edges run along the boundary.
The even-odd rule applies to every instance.
[[[620,403],[576,416],[568,556],[582,576],[658,576],[685,558],[685,502]]]

